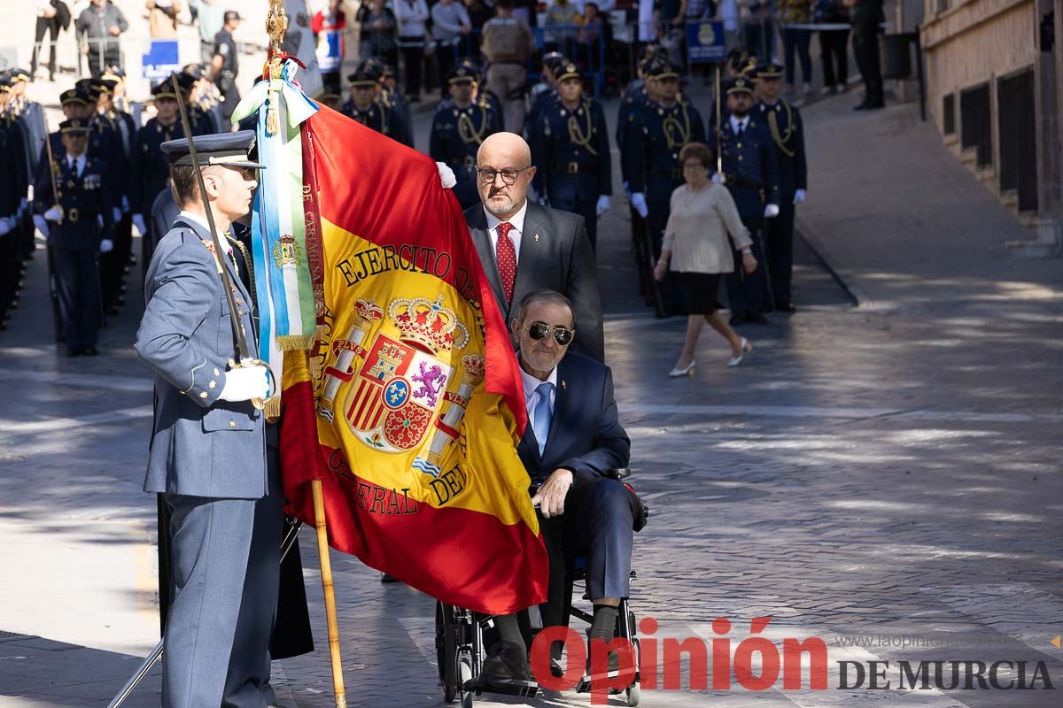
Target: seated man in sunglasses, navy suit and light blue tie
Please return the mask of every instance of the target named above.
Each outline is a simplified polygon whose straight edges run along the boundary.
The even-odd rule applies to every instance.
[[[591,639],[609,641],[618,607],[628,593],[634,493],[606,474],[627,466],[630,441],[617,415],[612,373],[578,353],[567,353],[577,333],[572,305],[551,290],[528,293],[510,323],[524,382],[528,426],[518,447],[550,557],[544,627],[566,624],[566,571],[587,557],[587,590],[594,605]],[[527,646],[517,615],[494,618],[500,640],[488,647],[485,686],[528,677]],[[601,645],[594,642],[593,646]],[[560,645],[552,647],[560,657]],[[610,657],[614,659],[615,657]]]

